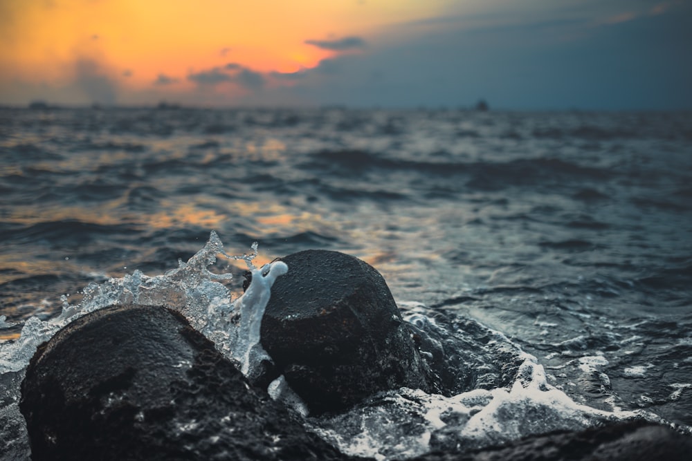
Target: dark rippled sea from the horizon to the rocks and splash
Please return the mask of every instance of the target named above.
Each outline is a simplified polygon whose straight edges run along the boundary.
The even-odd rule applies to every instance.
[[[359,256],[575,402],[692,424],[691,113],[0,109],[0,158],[8,321],[215,229]]]

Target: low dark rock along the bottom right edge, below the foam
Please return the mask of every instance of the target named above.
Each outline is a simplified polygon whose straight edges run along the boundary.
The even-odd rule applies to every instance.
[[[411,461],[687,461],[692,438],[666,426],[627,422],[554,433],[476,453],[428,453]]]

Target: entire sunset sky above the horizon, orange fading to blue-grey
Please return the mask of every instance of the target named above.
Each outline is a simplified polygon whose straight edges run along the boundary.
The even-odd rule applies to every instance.
[[[692,0],[0,0],[0,104],[692,109]]]

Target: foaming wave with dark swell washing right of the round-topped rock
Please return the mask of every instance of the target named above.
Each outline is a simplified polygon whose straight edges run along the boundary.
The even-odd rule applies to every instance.
[[[376,460],[430,451],[472,451],[552,431],[646,419],[646,411],[604,411],[578,404],[549,384],[545,369],[501,332],[447,318],[420,303],[400,303],[403,319],[424,337],[421,352],[446,382],[445,395],[401,388],[370,397],[340,415],[307,424],[340,451]],[[455,354],[463,354],[463,359]],[[442,364],[435,363],[442,359]],[[471,365],[469,376],[464,367]],[[450,368],[444,370],[442,368]]]

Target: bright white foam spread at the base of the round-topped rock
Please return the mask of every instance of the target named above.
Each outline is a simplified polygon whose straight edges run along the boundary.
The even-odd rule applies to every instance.
[[[597,357],[587,361],[605,363]],[[508,388],[475,389],[451,397],[402,388],[383,393],[346,415],[313,420],[312,429],[349,455],[390,460],[428,453],[433,442],[447,440],[462,449],[480,449],[529,435],[581,430],[645,415],[577,404],[547,383],[536,357],[522,353],[522,359],[517,378]]]

